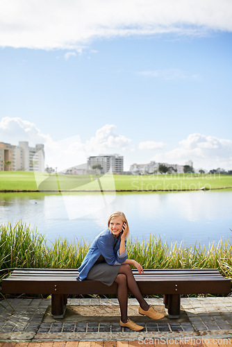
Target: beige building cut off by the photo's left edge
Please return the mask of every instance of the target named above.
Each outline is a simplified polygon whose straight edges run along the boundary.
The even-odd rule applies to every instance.
[[[15,146],[0,142],[0,171],[15,171]]]

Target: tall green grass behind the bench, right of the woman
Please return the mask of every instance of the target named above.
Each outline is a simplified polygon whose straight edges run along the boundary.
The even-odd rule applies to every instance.
[[[170,246],[160,237],[150,236],[149,240],[138,238],[128,242],[129,258],[140,262],[144,269],[218,269],[232,280],[232,244],[229,239],[220,239],[206,247],[197,242],[186,247],[183,242]]]

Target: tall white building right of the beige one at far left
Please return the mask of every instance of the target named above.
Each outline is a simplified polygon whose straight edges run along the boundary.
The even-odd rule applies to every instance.
[[[15,149],[15,162],[16,170],[44,172],[44,144],[30,147],[27,141],[20,141]]]

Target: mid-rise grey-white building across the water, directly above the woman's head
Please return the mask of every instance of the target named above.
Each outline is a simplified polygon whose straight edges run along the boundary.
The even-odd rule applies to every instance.
[[[88,169],[92,170],[92,167],[96,164],[101,165],[101,174],[106,174],[110,170],[110,167],[113,174],[122,174],[124,171],[124,158],[119,154],[100,154],[88,158]]]

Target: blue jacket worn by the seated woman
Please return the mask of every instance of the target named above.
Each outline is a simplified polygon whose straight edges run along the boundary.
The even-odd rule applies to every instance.
[[[82,281],[88,276],[88,272],[100,255],[103,255],[109,265],[121,265],[126,260],[127,252],[125,250],[122,254],[119,254],[120,242],[121,234],[117,238],[111,234],[108,228],[100,232],[92,242],[87,255],[85,255],[81,266],[78,268],[79,274],[76,280]]]

